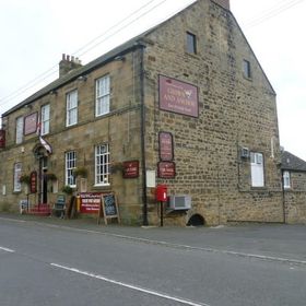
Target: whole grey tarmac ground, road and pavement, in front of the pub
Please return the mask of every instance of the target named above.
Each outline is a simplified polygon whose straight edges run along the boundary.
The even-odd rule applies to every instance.
[[[0,305],[306,305],[306,226],[0,215]]]

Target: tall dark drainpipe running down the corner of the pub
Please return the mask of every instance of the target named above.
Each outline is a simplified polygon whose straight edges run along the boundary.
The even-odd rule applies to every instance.
[[[142,167],[142,225],[148,226],[146,163],[145,163],[145,103],[144,103],[144,45],[140,45],[140,103],[141,103],[141,167]]]

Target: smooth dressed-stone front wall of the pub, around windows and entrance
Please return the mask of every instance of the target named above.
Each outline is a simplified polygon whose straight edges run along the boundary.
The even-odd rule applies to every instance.
[[[95,80],[110,75],[110,113],[95,117]],[[0,195],[1,203],[9,203],[10,210],[16,211],[17,203],[25,199],[24,188],[13,192],[14,163],[22,163],[22,173],[39,173],[39,162],[33,150],[39,145],[36,133],[15,144],[15,119],[19,116],[38,111],[45,104],[50,104],[50,133],[44,138],[52,146],[48,157],[48,173],[56,174],[58,192],[64,185],[64,154],[76,152],[76,167],[87,169],[89,191],[115,191],[120,203],[121,219],[126,223],[137,222],[141,216],[141,178],[123,180],[119,172],[110,175],[108,187],[96,187],[94,183],[94,146],[109,143],[110,162],[139,160],[140,154],[140,68],[138,51],[126,55],[125,61],[113,61],[86,74],[86,80],[74,80],[32,103],[31,108],[21,108],[9,116],[7,149],[1,152],[0,186],[5,186],[5,196]],[[78,89],[78,125],[66,127],[66,95]],[[3,163],[3,161],[5,161]],[[2,175],[3,174],[3,175]],[[51,192],[49,186],[48,202],[54,203],[58,192]],[[38,203],[38,193],[30,195],[31,203]]]

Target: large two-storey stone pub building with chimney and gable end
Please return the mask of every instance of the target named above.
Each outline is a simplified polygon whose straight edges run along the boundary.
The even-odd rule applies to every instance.
[[[275,92],[228,0],[198,0],[85,66],[59,66],[2,115],[2,205],[17,209],[33,172],[31,203],[55,202],[76,167],[84,190],[116,192],[127,224],[158,223],[156,184],[188,196],[170,197],[165,224],[284,221]],[[178,199],[190,209],[173,209]]]

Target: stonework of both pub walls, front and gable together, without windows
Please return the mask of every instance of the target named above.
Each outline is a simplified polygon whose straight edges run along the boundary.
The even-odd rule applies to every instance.
[[[186,32],[197,37],[197,54],[186,49]],[[193,214],[208,224],[227,221],[281,222],[283,201],[275,93],[258,63],[250,46],[232,13],[209,0],[200,0],[144,38],[144,103],[146,169],[156,170],[160,160],[158,132],[174,137],[176,177],[157,179],[166,184],[169,195],[190,195],[188,212],[166,211],[165,224],[185,225]],[[243,74],[243,60],[251,66],[251,79]],[[122,179],[120,173],[110,176],[106,188],[94,186],[94,145],[109,143],[111,162],[141,162],[141,55],[126,55],[125,61],[111,61],[97,67],[86,81],[74,80],[33,103],[32,109],[19,109],[10,115],[8,146],[1,153],[0,186],[7,195],[0,202],[17,208],[23,192],[12,192],[13,164],[22,162],[23,170],[38,169],[33,149],[37,136],[31,134],[15,145],[17,116],[39,111],[50,103],[50,134],[46,140],[54,154],[48,172],[56,173],[59,190],[64,184],[64,153],[76,151],[76,166],[89,170],[89,191],[117,193],[125,223],[140,223],[142,216],[142,169],[136,179]],[[110,114],[96,118],[95,80],[110,74]],[[199,117],[189,117],[160,109],[158,75],[179,80],[199,90]],[[67,128],[66,94],[79,90],[79,123]],[[273,139],[273,150],[271,149]],[[264,187],[252,188],[250,161],[240,158],[240,148],[263,154]],[[22,153],[22,151],[24,153]],[[140,163],[141,164],[141,163]],[[160,211],[154,189],[148,189],[149,221],[158,224]],[[57,193],[49,195],[54,201]],[[31,196],[34,197],[34,196]],[[38,196],[33,201],[38,201]]]

